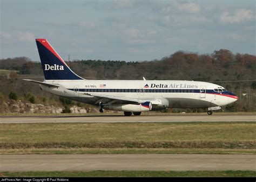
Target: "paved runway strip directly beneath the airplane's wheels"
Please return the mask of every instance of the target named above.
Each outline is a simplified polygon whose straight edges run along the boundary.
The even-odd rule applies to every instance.
[[[255,122],[256,115],[184,114],[184,115],[70,115],[70,116],[1,116],[0,123],[116,123],[116,122]]]

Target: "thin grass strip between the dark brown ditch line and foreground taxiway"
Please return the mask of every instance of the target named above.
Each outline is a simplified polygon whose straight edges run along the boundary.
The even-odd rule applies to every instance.
[[[0,149],[0,154],[256,154],[256,149]]]

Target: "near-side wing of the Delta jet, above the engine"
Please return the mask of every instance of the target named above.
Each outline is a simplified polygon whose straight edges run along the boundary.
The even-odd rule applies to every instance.
[[[135,103],[145,103],[145,100],[140,100],[136,98],[126,98],[126,97],[116,97],[116,96],[106,96],[106,95],[99,95],[99,94],[93,94],[93,93],[84,93],[87,96],[96,97],[96,103],[102,102],[104,104],[113,104],[113,103],[129,103],[129,104],[135,104]]]

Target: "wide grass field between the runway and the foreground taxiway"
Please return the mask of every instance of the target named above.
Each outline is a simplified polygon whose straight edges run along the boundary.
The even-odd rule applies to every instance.
[[[255,153],[256,122],[0,124],[1,153]]]

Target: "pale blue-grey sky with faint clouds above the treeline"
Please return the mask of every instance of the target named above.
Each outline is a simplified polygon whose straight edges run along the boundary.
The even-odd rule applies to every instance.
[[[182,50],[256,55],[252,1],[0,0],[0,58],[39,61],[35,38],[64,59],[140,61]]]

